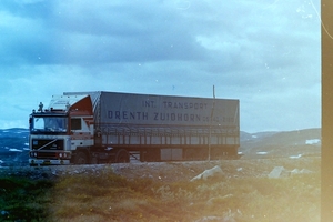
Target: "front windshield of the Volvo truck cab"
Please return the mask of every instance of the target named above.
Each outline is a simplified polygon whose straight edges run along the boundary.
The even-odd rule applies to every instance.
[[[68,129],[65,117],[32,117],[32,132],[63,133]]]

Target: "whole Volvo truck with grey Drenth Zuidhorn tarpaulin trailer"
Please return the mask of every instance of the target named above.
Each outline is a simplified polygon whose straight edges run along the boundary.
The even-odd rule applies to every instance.
[[[236,158],[235,99],[63,92],[29,118],[29,164],[99,164]]]

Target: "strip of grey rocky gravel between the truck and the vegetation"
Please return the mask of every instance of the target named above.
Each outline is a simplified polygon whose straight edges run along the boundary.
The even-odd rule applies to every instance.
[[[30,179],[57,179],[65,174],[99,173],[112,170],[128,179],[149,178],[159,181],[190,181],[204,170],[220,167],[226,178],[268,176],[275,167],[289,172],[320,172],[320,155],[300,158],[239,159],[221,161],[117,163],[100,165],[2,167],[0,175]]]

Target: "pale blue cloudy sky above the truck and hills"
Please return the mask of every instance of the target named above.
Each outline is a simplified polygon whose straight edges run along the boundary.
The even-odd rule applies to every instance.
[[[63,91],[239,99],[241,130],[321,124],[319,0],[1,0],[0,129]]]

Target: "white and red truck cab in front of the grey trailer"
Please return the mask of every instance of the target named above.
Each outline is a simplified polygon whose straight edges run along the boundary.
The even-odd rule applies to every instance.
[[[88,163],[78,151],[93,145],[89,95],[53,95],[48,109],[40,103],[32,111],[29,124],[30,165]]]

